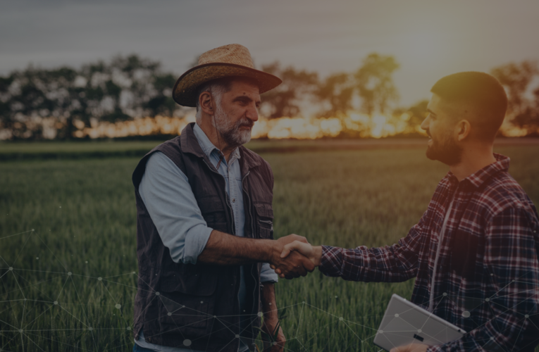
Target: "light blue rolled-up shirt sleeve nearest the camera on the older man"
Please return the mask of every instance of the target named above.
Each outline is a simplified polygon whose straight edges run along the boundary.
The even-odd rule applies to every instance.
[[[197,263],[210,237],[187,176],[161,152],[152,154],[139,193],[176,263]]]

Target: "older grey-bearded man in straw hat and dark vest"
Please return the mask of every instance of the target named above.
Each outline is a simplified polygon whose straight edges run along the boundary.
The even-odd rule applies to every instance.
[[[273,173],[242,144],[260,94],[280,79],[254,70],[244,46],[208,51],[176,82],[173,98],[197,122],[157,146],[133,173],[139,282],[134,351],[247,351],[260,318],[268,348],[283,351],[268,263],[287,277],[314,270],[301,254],[280,258],[273,240]]]

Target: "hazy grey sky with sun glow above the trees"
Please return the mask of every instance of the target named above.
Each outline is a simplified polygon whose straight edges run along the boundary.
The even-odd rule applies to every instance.
[[[401,106],[444,75],[539,60],[539,1],[3,0],[0,75],[140,54],[181,75],[217,46],[247,46],[255,65],[354,72],[395,56]]]

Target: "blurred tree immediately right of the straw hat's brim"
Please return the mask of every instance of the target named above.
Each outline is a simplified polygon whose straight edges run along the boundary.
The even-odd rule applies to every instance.
[[[262,70],[283,80],[280,86],[262,95],[262,108],[269,107],[268,118],[297,116],[300,112],[300,101],[305,100],[316,89],[318,74],[296,70],[292,66],[283,69],[277,61],[262,66]]]

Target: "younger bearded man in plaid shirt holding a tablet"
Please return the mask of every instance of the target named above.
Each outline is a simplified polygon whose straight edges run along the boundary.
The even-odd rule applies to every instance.
[[[468,333],[447,344],[397,351],[533,351],[539,327],[539,220],[492,153],[507,108],[497,80],[455,73],[431,89],[427,157],[450,166],[419,223],[398,244],[342,249],[293,242],[321,272],[364,282],[416,277],[411,301]],[[278,270],[278,269],[277,269]]]

